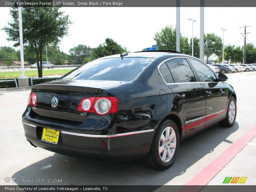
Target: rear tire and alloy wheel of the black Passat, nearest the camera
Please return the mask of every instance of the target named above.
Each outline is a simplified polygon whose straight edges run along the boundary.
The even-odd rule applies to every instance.
[[[157,170],[168,169],[175,161],[179,145],[180,135],[177,125],[172,120],[165,119],[156,130],[150,152],[145,159],[146,164]]]

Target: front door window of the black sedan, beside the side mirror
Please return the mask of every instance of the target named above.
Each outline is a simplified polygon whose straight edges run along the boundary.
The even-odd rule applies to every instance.
[[[194,59],[188,59],[188,60],[195,68],[200,81],[202,81],[202,82],[217,81],[215,74],[212,72],[212,70],[210,68],[208,68],[203,63],[201,63],[197,60],[194,60]]]

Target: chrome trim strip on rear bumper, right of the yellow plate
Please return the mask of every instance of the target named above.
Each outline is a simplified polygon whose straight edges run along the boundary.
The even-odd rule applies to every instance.
[[[154,129],[136,131],[136,132],[130,132],[130,133],[113,134],[113,135],[90,135],[90,134],[74,133],[74,132],[67,132],[67,131],[61,131],[61,133],[68,134],[68,135],[76,135],[81,137],[109,138],[109,137],[121,137],[121,136],[127,136],[127,135],[134,135],[134,134],[146,133],[146,132],[152,132],[152,131],[154,131]]]

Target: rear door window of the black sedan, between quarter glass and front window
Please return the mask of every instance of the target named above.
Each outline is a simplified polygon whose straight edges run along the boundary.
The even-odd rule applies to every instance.
[[[196,82],[196,77],[185,58],[170,59],[166,64],[175,83]]]

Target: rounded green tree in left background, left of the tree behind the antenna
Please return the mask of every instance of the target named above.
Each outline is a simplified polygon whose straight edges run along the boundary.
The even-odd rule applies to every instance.
[[[82,65],[84,58],[91,57],[91,54],[91,47],[79,44],[76,47],[69,49],[69,61],[75,65]]]

